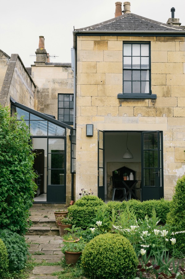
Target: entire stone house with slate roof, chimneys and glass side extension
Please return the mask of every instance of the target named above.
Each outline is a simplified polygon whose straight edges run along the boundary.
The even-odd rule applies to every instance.
[[[73,31],[72,65],[51,63],[43,36],[31,68],[0,51],[0,103],[33,134],[35,202],[110,200],[125,173],[131,197],[171,199],[185,172],[185,27],[174,8],[160,23],[121,5]]]

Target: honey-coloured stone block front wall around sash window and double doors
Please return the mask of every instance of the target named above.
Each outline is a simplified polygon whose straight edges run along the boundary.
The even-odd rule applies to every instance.
[[[164,197],[172,197],[176,180],[185,172],[184,39],[184,36],[77,36],[77,192],[86,187],[97,194],[98,129],[160,130]],[[130,41],[151,44],[151,90],[157,99],[117,98],[123,92],[123,42]],[[94,125],[94,135],[86,137],[85,126],[90,123]]]

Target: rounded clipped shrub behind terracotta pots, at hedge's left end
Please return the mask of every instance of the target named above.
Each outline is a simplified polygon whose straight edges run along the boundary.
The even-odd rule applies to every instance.
[[[87,228],[92,218],[96,217],[97,209],[103,204],[96,196],[84,196],[68,208],[68,216],[72,218],[72,224],[82,229]]]

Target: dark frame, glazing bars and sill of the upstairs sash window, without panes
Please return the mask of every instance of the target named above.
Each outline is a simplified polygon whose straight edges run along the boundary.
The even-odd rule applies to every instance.
[[[149,68],[141,68],[141,65],[140,65],[140,68],[124,68],[124,64],[123,64],[123,93],[122,94],[118,94],[117,95],[117,98],[118,99],[156,99],[157,98],[157,95],[156,94],[152,94],[152,91],[151,91],[151,45],[150,45],[150,42],[146,41],[146,42],[141,42],[141,41],[135,41],[135,42],[125,42],[123,41],[123,52],[124,52],[124,44],[131,44],[132,46],[134,44],[139,44],[140,45],[140,57],[149,57]],[[149,45],[149,55],[148,56],[141,56],[141,45],[142,44],[147,44]],[[131,50],[132,51],[132,50]],[[133,58],[133,55],[132,55],[132,52],[131,52],[131,56],[124,56],[124,53],[122,55],[123,57],[123,63],[124,63],[124,57],[131,57],[131,60]],[[131,64],[132,66],[132,64]],[[149,70],[149,93],[124,93],[124,71],[147,71]],[[132,75],[133,77],[133,75]],[[140,74],[140,78],[141,78],[141,74]],[[134,80],[136,81],[136,80]],[[141,89],[141,79],[140,79],[140,89]],[[131,84],[133,85],[133,79],[131,78]],[[132,87],[131,85],[131,87]],[[133,87],[132,87],[133,88]]]

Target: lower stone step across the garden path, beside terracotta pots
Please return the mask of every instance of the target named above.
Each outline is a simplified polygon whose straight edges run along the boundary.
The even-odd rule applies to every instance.
[[[26,235],[59,235],[56,226],[31,226]]]

